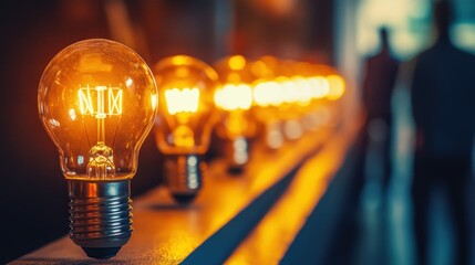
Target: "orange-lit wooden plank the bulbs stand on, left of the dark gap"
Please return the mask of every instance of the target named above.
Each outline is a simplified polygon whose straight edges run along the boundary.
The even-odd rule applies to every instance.
[[[244,176],[228,176],[224,160],[209,165],[204,189],[196,202],[178,206],[167,190],[159,187],[134,200],[134,234],[111,263],[177,264],[218,231],[252,199],[288,173],[329,137],[330,128],[307,135],[301,140],[269,151],[256,146]],[[140,176],[137,176],[140,178]],[[18,263],[87,262],[81,248],[60,239]]]

